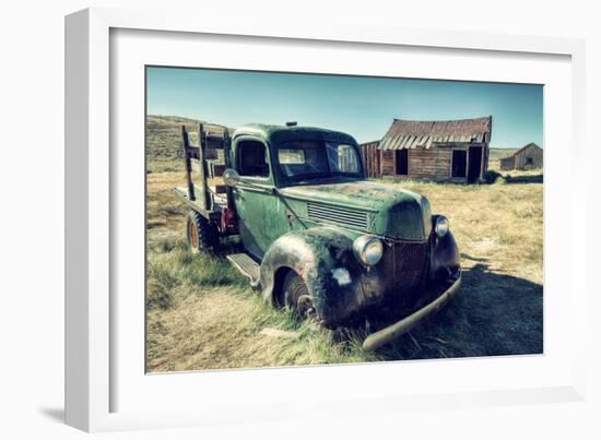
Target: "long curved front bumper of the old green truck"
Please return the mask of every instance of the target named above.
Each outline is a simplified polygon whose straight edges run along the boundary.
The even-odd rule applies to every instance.
[[[378,332],[372,333],[363,341],[363,349],[370,352],[381,347],[392,340],[409,332],[422,320],[426,319],[431,314],[437,312],[443,306],[445,306],[457,293],[461,285],[461,270],[453,274],[452,284],[435,300],[422,307],[420,310],[411,313],[409,317],[387,326]]]

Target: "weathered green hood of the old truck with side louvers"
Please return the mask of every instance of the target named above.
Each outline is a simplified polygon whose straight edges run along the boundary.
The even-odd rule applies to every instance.
[[[424,240],[432,229],[427,199],[398,186],[358,180],[287,187],[281,193],[306,202],[298,214],[320,223],[406,240]],[[353,212],[366,213],[365,227]]]

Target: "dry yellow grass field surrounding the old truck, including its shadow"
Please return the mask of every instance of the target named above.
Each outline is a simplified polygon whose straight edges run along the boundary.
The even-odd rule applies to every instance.
[[[148,169],[149,371],[542,353],[541,171],[480,186],[387,180],[425,194],[449,217],[464,278],[438,314],[364,353],[362,329],[333,342],[328,331],[263,304],[223,255],[189,253],[186,209],[170,192],[184,183],[182,167],[151,156]]]

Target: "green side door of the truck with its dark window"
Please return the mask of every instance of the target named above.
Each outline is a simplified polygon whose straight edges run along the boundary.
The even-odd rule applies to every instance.
[[[234,164],[240,182],[233,189],[240,238],[248,253],[261,259],[280,229],[278,195],[269,148],[257,139],[241,138],[234,144]],[[251,183],[246,185],[246,183]]]

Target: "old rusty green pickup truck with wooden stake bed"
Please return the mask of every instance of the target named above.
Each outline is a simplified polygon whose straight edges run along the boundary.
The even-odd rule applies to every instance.
[[[461,282],[449,222],[426,198],[368,181],[356,141],[318,128],[248,124],[182,127],[192,251],[214,252],[239,235],[227,259],[263,298],[329,329],[378,310],[398,321],[369,334],[376,349],[444,306]],[[434,292],[434,294],[433,294]]]

